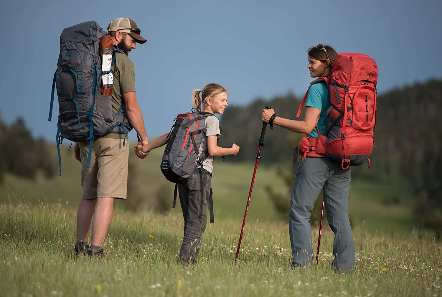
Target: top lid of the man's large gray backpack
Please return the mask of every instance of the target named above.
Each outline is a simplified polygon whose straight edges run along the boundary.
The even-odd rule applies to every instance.
[[[60,44],[63,42],[82,42],[91,44],[102,38],[107,32],[95,21],[88,21],[65,28],[60,35]]]

